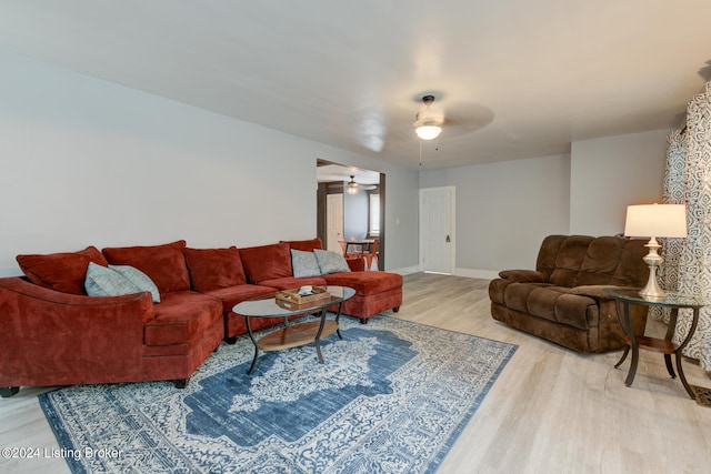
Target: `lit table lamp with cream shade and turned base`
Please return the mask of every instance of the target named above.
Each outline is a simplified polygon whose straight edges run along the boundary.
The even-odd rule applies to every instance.
[[[627,206],[624,235],[650,238],[644,245],[649,253],[642,259],[649,265],[649,280],[640,291],[644,297],[663,297],[667,293],[657,283],[657,268],[663,259],[657,238],[687,236],[687,206],[684,204],[640,204]]]

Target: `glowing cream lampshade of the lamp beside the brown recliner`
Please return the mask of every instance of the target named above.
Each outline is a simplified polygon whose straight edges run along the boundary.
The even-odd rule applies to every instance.
[[[687,206],[684,204],[628,205],[624,235],[685,238]]]

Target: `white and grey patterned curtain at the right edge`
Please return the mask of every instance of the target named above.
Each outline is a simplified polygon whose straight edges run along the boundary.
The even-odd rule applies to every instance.
[[[689,102],[685,133],[672,132],[668,150],[664,202],[687,204],[688,236],[667,239],[663,283],[711,299],[711,82]],[[691,312],[680,311],[674,342],[681,342],[690,326]],[[701,310],[683,353],[711,371],[711,306]]]

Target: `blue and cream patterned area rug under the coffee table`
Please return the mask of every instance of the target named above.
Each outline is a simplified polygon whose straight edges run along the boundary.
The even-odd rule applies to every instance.
[[[269,331],[269,330],[267,330]],[[222,344],[184,390],[69,386],[40,404],[74,473],[432,473],[517,346],[394,317],[260,355]]]

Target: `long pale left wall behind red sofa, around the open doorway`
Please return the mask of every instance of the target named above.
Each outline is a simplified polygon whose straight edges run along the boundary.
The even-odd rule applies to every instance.
[[[0,275],[19,253],[316,235],[316,159],[387,173],[388,266],[417,264],[415,171],[0,52]],[[412,198],[414,196],[414,198]]]

